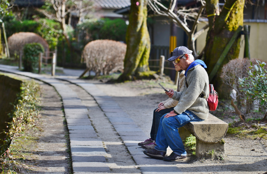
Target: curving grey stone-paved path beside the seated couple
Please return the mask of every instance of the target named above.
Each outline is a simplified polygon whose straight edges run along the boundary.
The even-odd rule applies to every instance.
[[[127,173],[182,173],[176,167],[177,162],[156,160],[143,154],[143,149],[137,143],[147,139],[147,136],[112,97],[94,84],[64,76],[54,78],[21,72],[17,67],[6,65],[0,65],[0,71],[41,80],[52,85],[59,93],[69,130],[73,173],[114,173],[111,170],[114,161],[123,161],[109,160],[112,154],[109,153],[109,147],[112,145],[117,147],[118,153],[127,153],[126,147],[130,153],[128,160],[134,160],[132,166],[122,164],[118,167],[131,168]],[[121,158],[125,160],[125,156]],[[116,172],[124,173],[122,169]]]

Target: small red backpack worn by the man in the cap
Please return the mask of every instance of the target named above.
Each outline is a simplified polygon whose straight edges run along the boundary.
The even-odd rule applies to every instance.
[[[185,81],[186,87],[188,88],[188,84]],[[213,84],[209,84],[210,87],[210,95],[205,97],[204,94],[199,94],[199,97],[205,98],[208,102],[210,111],[215,111],[218,106],[218,93],[214,90]]]

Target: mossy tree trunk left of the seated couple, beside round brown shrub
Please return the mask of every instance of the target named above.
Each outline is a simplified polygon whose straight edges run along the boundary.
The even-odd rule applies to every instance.
[[[147,0],[131,0],[126,44],[124,72],[118,80],[142,78],[144,72],[149,71],[150,37],[147,29]]]

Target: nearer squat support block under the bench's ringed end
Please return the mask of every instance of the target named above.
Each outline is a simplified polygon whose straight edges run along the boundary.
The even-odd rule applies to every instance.
[[[224,140],[217,143],[205,143],[196,137],[196,156],[198,159],[223,159]]]

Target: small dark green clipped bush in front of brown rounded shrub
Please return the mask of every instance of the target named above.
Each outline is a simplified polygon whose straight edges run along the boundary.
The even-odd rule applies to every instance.
[[[44,52],[44,47],[40,43],[29,43],[23,47],[24,71],[32,72],[33,68],[37,68],[40,52]]]

